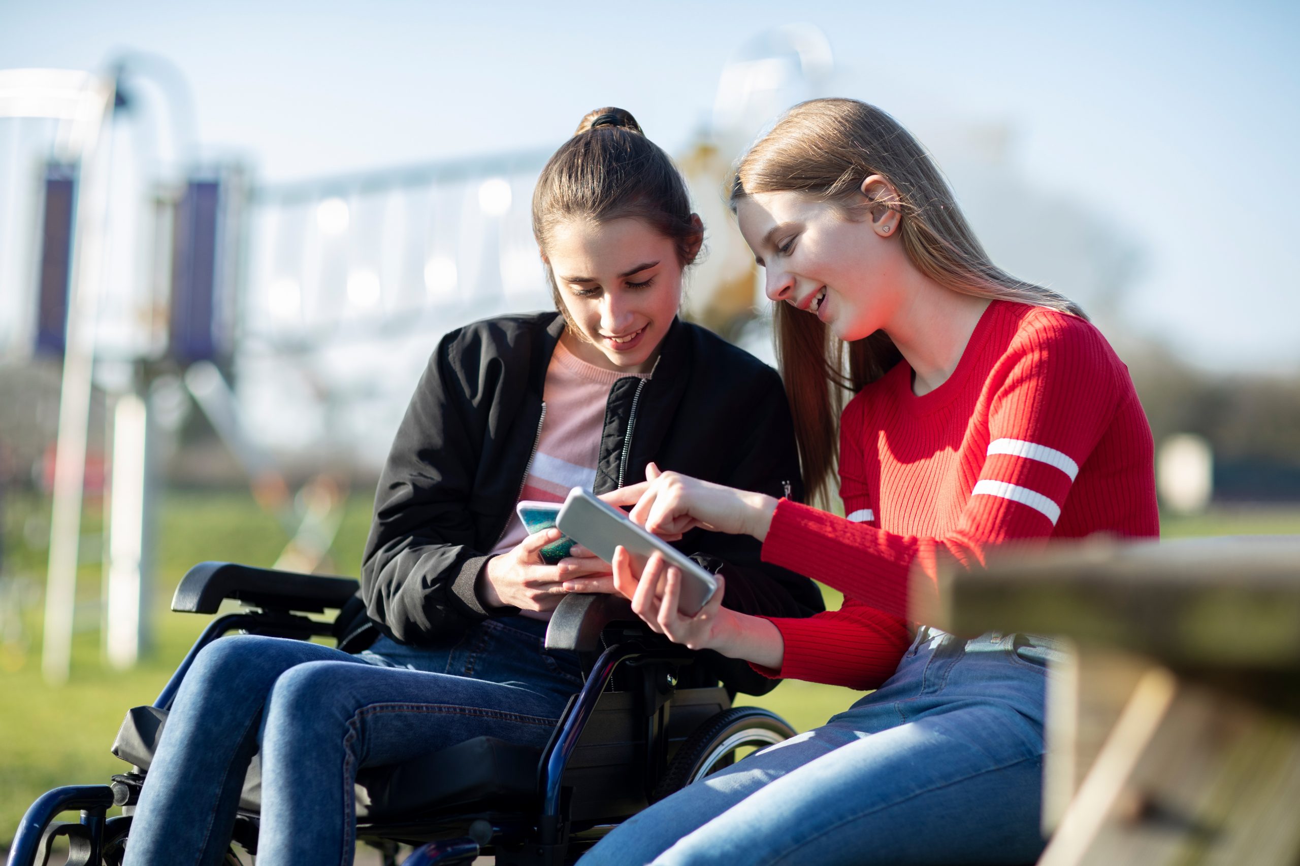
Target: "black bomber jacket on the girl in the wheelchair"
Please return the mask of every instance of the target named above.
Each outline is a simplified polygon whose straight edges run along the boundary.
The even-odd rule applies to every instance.
[[[554,312],[484,319],[443,336],[430,357],[380,479],[361,566],[367,614],[394,640],[446,644],[473,622],[517,614],[485,608],[476,582],[523,489],[563,328]],[[650,461],[771,496],[803,493],[780,377],[680,319],[654,375],[610,390],[594,492],[644,480]],[[774,617],[823,609],[812,582],[760,562],[749,536],[693,530],[676,547],[727,578],[728,608]],[[732,689],[775,686],[745,662],[706,658]]]

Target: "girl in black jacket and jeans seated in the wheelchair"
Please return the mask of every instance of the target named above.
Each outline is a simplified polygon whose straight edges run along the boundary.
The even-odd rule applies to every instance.
[[[612,591],[612,578],[581,549],[545,563],[559,534],[529,535],[517,501],[612,491],[653,461],[802,495],[776,373],[677,318],[703,227],[630,114],[584,118],[542,171],[533,226],[558,312],[447,334],[394,440],[361,579],[382,634],[356,656],[261,636],[204,648],[150,766],[127,866],[220,862],[259,750],[259,862],[296,865],[351,862],[359,767],[485,735],[543,745],[582,684],[576,657],[542,652],[546,619],[566,580]],[[812,583],[760,562],[754,539],[701,531],[682,549],[729,578],[737,610],[820,610]],[[748,663],[710,658],[728,687],[770,688]]]

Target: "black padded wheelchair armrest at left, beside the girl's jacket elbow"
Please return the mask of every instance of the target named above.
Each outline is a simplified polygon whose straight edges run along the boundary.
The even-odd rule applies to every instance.
[[[200,562],[181,578],[172,610],[216,613],[222,599],[238,599],[263,610],[321,613],[342,608],[356,589],[352,578],[256,569],[238,562]]]

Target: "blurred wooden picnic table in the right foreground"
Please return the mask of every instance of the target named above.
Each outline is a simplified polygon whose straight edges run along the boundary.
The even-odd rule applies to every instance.
[[[1086,541],[940,575],[935,621],[1067,637],[1040,866],[1300,863],[1300,536]]]

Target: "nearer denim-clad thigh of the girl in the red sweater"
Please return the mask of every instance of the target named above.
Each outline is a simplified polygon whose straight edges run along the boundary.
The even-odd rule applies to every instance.
[[[1032,862],[1040,741],[1011,708],[956,705],[774,779],[654,862]]]

